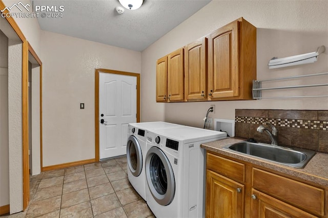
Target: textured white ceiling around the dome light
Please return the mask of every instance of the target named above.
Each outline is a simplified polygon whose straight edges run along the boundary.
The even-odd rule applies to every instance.
[[[143,51],[211,0],[146,0],[118,14],[118,0],[35,0],[33,5],[64,6],[63,17],[38,17],[41,29],[120,48]]]

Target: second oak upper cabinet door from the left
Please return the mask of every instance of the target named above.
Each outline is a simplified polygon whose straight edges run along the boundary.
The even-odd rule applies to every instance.
[[[184,87],[183,48],[168,56],[168,95],[169,101],[183,101]]]

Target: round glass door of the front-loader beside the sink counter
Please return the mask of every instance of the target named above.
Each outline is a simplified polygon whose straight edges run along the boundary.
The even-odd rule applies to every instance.
[[[146,179],[155,201],[163,206],[174,198],[175,180],[169,159],[158,147],[151,147],[146,157]]]

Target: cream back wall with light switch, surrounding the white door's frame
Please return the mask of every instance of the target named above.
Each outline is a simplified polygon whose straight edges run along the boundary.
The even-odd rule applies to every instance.
[[[141,53],[51,32],[40,47],[43,166],[94,159],[95,68],[141,73]]]

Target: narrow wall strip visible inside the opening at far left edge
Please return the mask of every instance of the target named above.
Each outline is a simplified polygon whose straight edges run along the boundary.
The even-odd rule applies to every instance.
[[[0,207],[9,204],[8,38],[0,31]]]

